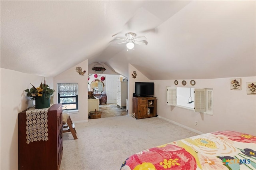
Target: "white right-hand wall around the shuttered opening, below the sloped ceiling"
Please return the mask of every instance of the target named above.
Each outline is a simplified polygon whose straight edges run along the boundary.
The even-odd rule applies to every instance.
[[[255,82],[256,77],[241,78],[242,90],[230,90],[230,78],[198,79],[196,85],[191,86],[190,80],[186,86],[174,85],[174,80],[157,80],[155,83],[155,97],[157,97],[157,114],[161,117],[193,128],[200,132],[216,130],[235,130],[256,135],[256,96],[246,94],[246,82]],[[198,112],[171,107],[166,105],[166,87],[194,87],[213,89],[213,116]],[[195,126],[198,121],[198,126]]]

